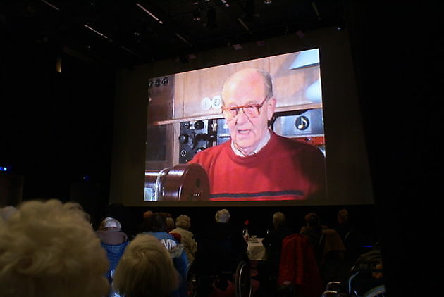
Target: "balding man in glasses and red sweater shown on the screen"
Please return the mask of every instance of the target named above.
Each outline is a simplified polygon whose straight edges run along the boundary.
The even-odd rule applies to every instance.
[[[223,84],[222,100],[231,141],[190,160],[206,170],[211,200],[323,198],[323,153],[269,129],[276,99],[268,72],[246,68],[230,75]]]

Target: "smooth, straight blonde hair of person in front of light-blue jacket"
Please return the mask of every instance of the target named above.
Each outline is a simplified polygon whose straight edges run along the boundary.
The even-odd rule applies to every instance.
[[[167,296],[178,288],[179,274],[159,239],[138,234],[116,267],[113,289],[125,297]]]

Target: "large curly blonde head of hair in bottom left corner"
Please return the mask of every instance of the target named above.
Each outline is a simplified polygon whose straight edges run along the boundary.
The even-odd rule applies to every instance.
[[[101,297],[108,260],[77,203],[27,201],[0,222],[0,296]]]

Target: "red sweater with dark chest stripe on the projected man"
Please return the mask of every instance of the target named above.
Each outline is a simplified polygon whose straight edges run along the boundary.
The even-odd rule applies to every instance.
[[[206,170],[213,201],[302,200],[324,194],[323,153],[274,132],[252,156],[237,156],[227,141],[197,153],[190,163]]]

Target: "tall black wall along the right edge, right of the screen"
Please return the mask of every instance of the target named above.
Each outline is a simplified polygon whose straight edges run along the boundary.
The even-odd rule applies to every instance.
[[[443,4],[348,2],[388,296],[438,296]]]

